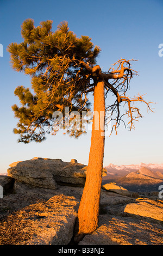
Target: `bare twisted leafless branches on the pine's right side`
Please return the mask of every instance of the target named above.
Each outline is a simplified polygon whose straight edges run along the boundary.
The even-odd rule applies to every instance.
[[[131,59],[136,61],[135,59]],[[133,98],[126,96],[126,92],[129,88],[129,83],[133,75],[138,75],[137,71],[131,69],[131,60],[120,59],[113,66],[113,68],[109,69],[107,73],[102,72],[101,76],[105,81],[105,89],[106,95],[109,91],[111,91],[116,96],[116,101],[106,107],[106,110],[110,111],[111,121],[114,121],[112,125],[111,133],[115,130],[117,134],[117,128],[120,125],[121,121],[124,123],[124,117],[129,118],[127,125],[129,126],[129,130],[134,129],[135,121],[138,121],[139,118],[142,118],[142,114],[140,113],[140,108],[135,106],[135,103],[145,103],[147,105],[147,111],[153,112],[153,108],[151,104],[154,102],[147,102],[143,99],[144,95],[136,95]],[[117,65],[117,68],[115,66]],[[109,80],[112,80],[111,82]],[[127,106],[126,112],[120,111],[120,107],[124,105]],[[122,113],[121,113],[122,112]],[[110,135],[111,135],[110,133]]]

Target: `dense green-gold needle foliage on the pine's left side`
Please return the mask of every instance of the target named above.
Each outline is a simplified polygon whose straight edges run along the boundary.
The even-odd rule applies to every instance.
[[[12,106],[19,119],[14,129],[20,135],[19,142],[41,142],[46,133],[55,134],[60,125],[55,124],[54,132],[55,111],[64,114],[65,107],[79,113],[90,110],[87,94],[93,83],[80,61],[93,67],[101,50],[89,36],[77,38],[67,22],[61,22],[55,32],[52,23],[47,20],[35,27],[34,21],[27,19],[21,27],[23,42],[8,46],[12,68],[31,77],[33,91],[18,86],[14,92],[21,105]],[[67,132],[78,137],[84,131],[77,131],[72,125]]]

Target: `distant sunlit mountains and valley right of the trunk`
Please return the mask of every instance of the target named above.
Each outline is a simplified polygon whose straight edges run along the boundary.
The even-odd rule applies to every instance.
[[[107,175],[103,177],[103,184],[116,182],[130,191],[158,191],[163,185],[163,164],[131,164],[130,166],[105,167]]]

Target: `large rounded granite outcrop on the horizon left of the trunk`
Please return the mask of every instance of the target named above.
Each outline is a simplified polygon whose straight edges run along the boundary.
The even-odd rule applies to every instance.
[[[64,162],[61,159],[34,157],[11,163],[8,176],[33,186],[55,189],[57,184],[84,187],[86,172],[87,166],[75,159]],[[104,168],[103,175],[106,175]]]

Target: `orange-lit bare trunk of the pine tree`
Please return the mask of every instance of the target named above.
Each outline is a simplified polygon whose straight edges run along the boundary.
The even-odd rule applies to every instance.
[[[104,118],[104,82],[100,81],[97,83],[94,92],[94,117],[92,124],[91,148],[86,182],[78,210],[78,237],[92,233],[98,226],[105,141]]]

